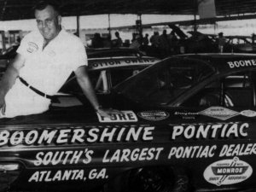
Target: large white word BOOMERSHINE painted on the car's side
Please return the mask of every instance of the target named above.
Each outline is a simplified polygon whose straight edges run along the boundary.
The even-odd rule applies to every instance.
[[[61,145],[72,143],[104,143],[152,141],[154,126],[105,127],[90,129],[61,129],[44,131],[0,131],[0,146]],[[33,133],[33,134],[32,134]]]

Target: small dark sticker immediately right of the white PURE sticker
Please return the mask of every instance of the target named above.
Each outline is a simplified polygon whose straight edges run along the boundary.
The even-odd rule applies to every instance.
[[[147,120],[163,120],[169,117],[169,113],[164,111],[145,111],[137,114],[139,117]]]

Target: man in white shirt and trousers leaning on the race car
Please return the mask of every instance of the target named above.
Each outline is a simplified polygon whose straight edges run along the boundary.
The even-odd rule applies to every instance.
[[[49,109],[50,96],[61,88],[72,71],[84,95],[102,116],[84,66],[84,44],[61,29],[61,15],[53,3],[39,2],[34,8],[38,30],[26,35],[0,82],[0,118],[43,113]]]

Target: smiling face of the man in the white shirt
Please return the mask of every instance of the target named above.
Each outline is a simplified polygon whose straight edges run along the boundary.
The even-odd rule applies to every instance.
[[[52,40],[61,31],[61,16],[57,15],[55,9],[47,6],[43,10],[36,10],[35,17],[38,23],[39,32],[45,40]]]

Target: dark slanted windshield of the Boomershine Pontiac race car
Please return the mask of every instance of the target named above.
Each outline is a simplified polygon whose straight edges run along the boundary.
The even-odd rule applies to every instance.
[[[213,72],[205,62],[170,58],[148,67],[115,90],[134,102],[166,105]]]

